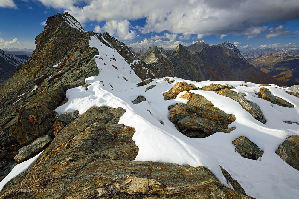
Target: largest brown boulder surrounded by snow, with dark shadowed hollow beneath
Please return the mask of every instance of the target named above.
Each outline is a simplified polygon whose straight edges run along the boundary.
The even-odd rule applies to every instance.
[[[190,137],[207,137],[216,132],[231,132],[228,128],[236,118],[215,107],[202,95],[186,92],[181,98],[188,99],[187,104],[175,104],[170,107],[170,121],[177,129]],[[194,135],[195,133],[195,135]]]

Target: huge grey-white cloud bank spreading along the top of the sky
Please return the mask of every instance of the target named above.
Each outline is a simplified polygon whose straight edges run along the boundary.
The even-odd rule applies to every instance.
[[[240,33],[252,37],[269,21],[299,18],[298,0],[39,1],[49,7],[65,9],[81,23],[146,18],[146,24],[140,27],[141,33],[168,31],[172,34],[219,36]],[[82,6],[83,1],[85,6]],[[248,29],[252,29],[251,34]]]

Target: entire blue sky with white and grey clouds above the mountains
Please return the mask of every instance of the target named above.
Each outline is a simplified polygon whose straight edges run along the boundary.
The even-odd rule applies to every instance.
[[[48,16],[68,12],[85,30],[133,48],[230,41],[240,50],[299,48],[298,0],[0,0],[0,48],[35,48]]]

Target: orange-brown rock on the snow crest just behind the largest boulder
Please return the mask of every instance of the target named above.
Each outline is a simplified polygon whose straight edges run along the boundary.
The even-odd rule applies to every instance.
[[[176,96],[179,95],[180,92],[189,91],[189,90],[197,90],[199,89],[193,84],[188,84],[186,82],[177,82],[174,86],[167,92],[164,92],[162,95],[164,96],[164,100],[175,99]]]

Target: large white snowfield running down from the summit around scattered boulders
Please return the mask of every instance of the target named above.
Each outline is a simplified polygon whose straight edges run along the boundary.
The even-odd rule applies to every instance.
[[[289,136],[299,135],[298,124],[286,124],[283,121],[299,122],[299,101],[295,96],[286,93],[286,89],[271,85],[267,88],[273,95],[292,103],[294,108],[281,107],[260,99],[255,93],[260,89],[258,84],[232,81],[185,81],[197,87],[216,84],[230,84],[235,92],[246,94],[246,99],[259,105],[267,120],[262,124],[255,120],[240,104],[231,98],[216,94],[213,91],[192,90],[211,101],[214,106],[226,113],[234,114],[236,120],[228,127],[235,126],[231,133],[217,132],[207,138],[188,138],[179,132],[169,121],[167,107],[176,103],[186,103],[179,98],[164,101],[162,93],[173,84],[164,78],[155,79],[146,86],[136,86],[140,78],[132,71],[126,61],[112,48],[92,36],[91,47],[96,47],[99,55],[95,56],[100,70],[98,76],[86,78],[88,90],[76,87],[67,90],[68,102],[57,107],[57,113],[79,110],[80,114],[92,106],[122,107],[126,113],[119,123],[136,129],[133,140],[139,148],[136,161],[159,161],[190,166],[207,166],[226,186],[219,165],[224,167],[244,188],[247,195],[255,198],[294,198],[299,195],[299,171],[284,162],[275,150]],[[241,84],[249,87],[240,86]],[[145,91],[151,85],[156,87]],[[139,95],[146,98],[139,104],[132,101]],[[149,111],[150,112],[149,112]],[[163,121],[164,124],[161,124]],[[245,136],[264,151],[258,161],[246,159],[235,152],[232,141]]]

